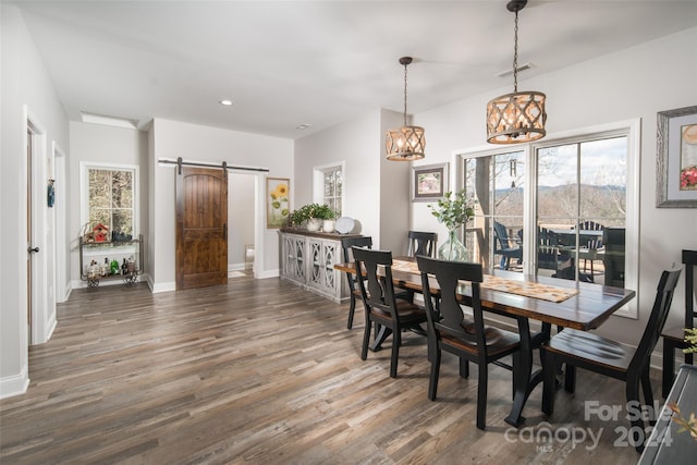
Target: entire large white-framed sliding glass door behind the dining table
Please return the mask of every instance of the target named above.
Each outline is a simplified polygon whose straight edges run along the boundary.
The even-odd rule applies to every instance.
[[[638,125],[461,155],[458,188],[476,200],[469,258],[636,291]],[[636,304],[619,314],[636,318]]]

